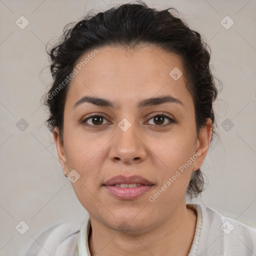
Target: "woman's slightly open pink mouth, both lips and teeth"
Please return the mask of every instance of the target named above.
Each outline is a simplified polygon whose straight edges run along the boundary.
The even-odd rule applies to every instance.
[[[114,198],[132,200],[148,192],[154,184],[141,176],[118,175],[102,184]]]

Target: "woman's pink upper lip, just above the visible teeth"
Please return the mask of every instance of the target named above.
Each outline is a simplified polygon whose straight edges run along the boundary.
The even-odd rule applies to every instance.
[[[103,185],[111,186],[115,184],[144,184],[144,185],[153,185],[150,181],[146,178],[143,178],[138,175],[133,176],[124,176],[124,175],[117,175],[107,179]]]

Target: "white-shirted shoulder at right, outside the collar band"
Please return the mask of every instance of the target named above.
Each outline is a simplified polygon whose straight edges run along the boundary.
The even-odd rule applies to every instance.
[[[232,255],[254,255],[256,253],[256,229],[233,218],[223,216],[217,210],[204,205],[198,205],[201,210],[200,246],[218,247],[221,252]],[[205,254],[206,255],[206,254]]]

